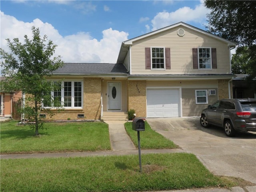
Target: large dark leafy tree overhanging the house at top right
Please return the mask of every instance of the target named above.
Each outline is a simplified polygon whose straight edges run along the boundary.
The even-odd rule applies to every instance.
[[[256,1],[223,1],[206,0],[208,32],[236,42],[239,48],[246,46],[246,58],[250,60],[246,65],[249,79],[256,77]],[[243,48],[241,48],[243,49]]]

